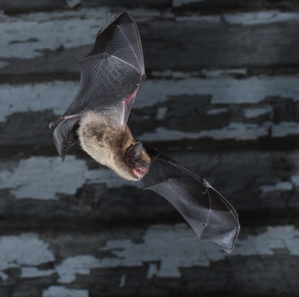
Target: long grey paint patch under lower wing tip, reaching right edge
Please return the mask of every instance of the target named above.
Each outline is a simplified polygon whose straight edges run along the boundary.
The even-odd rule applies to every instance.
[[[62,271],[64,273],[60,275],[60,282],[74,281],[81,269],[86,274],[84,269],[91,267],[143,266],[144,262],[149,262],[147,278],[153,275],[180,277],[180,267],[208,267],[210,261],[224,260],[225,257],[235,255],[273,255],[274,249],[280,248],[299,256],[299,231],[294,226],[268,226],[264,233],[238,239],[231,254],[212,243],[199,240],[184,223],[150,226],[143,239],[144,243],[137,244],[129,239],[107,241],[106,246],[99,250],[111,252],[115,256],[113,258],[97,259],[81,255],[65,259],[57,269],[59,275]],[[83,264],[80,257],[83,257]],[[151,262],[160,262],[160,267]]]

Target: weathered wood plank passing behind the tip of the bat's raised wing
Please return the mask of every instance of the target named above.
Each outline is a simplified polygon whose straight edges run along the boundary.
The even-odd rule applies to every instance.
[[[155,19],[155,14],[135,14],[148,71],[243,67],[254,71],[259,66],[259,71],[268,73],[273,68],[296,69],[299,65],[298,13],[228,14],[224,19],[169,19],[163,15]],[[28,74],[38,73],[39,79],[47,79],[50,74],[52,79],[55,75],[69,77],[74,73],[78,78],[76,61],[91,50],[103,16],[102,9],[90,15],[80,11],[53,13],[51,17],[48,13],[42,22],[40,15],[33,15],[30,21],[16,18],[0,23],[4,30],[0,51],[2,80],[30,80]]]

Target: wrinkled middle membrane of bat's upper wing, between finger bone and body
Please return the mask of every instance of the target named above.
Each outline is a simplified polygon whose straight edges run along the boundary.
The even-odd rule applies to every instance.
[[[109,106],[119,108],[121,114],[122,101],[134,93],[142,82],[138,72],[106,53],[88,56],[79,63],[81,65],[79,89],[73,103],[63,116],[100,110]]]

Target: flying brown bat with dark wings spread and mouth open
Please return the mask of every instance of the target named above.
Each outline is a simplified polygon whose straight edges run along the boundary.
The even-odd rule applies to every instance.
[[[50,124],[58,154],[81,147],[97,162],[172,203],[200,239],[231,252],[240,226],[234,208],[203,177],[154,147],[136,141],[127,126],[145,80],[141,41],[127,11],[109,11],[92,51],[79,61],[77,94],[64,115]]]

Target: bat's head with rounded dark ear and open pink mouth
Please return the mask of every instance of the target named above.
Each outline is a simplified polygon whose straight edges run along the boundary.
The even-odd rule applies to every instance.
[[[149,169],[150,158],[142,149],[141,142],[135,143],[127,151],[126,163],[132,168],[132,175],[135,179],[142,179]]]

